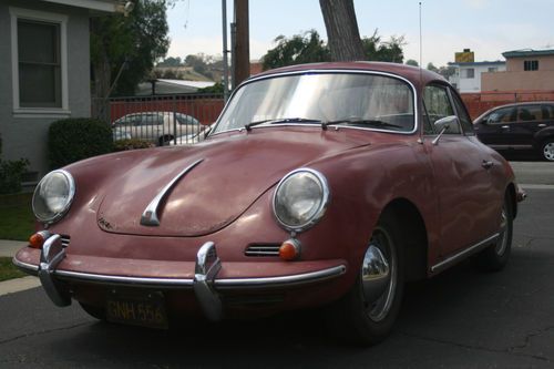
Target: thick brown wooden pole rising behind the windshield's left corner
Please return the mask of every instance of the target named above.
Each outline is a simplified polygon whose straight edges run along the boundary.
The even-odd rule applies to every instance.
[[[248,27],[248,0],[235,0],[235,43],[233,88],[250,76],[250,38]]]

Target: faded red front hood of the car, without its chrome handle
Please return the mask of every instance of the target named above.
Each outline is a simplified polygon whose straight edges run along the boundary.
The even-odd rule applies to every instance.
[[[206,235],[236,219],[289,171],[368,144],[356,137],[338,140],[332,132],[310,131],[255,129],[188,147],[144,151],[144,157],[121,168],[110,183],[98,224],[120,234]],[[187,167],[189,171],[178,177]],[[160,224],[141,224],[146,207],[176,177],[160,202]]]

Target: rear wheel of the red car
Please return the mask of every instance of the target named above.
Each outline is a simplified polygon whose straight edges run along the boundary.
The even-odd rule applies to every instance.
[[[504,197],[501,212],[500,236],[497,240],[478,254],[478,268],[483,271],[504,269],[512,250],[513,209],[509,195]]]

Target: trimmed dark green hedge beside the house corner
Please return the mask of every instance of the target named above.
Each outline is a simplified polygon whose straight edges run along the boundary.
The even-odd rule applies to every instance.
[[[48,132],[50,166],[59,168],[91,156],[111,153],[112,129],[88,117],[53,122]]]

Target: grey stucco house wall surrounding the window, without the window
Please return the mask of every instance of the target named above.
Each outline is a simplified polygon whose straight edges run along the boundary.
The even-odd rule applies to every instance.
[[[0,134],[2,158],[27,157],[39,177],[48,171],[47,141],[50,123],[59,117],[16,117],[13,113],[11,22],[9,7],[68,16],[68,89],[72,117],[90,116],[89,12],[85,9],[38,1],[0,3]],[[40,86],[38,86],[40,88]]]

